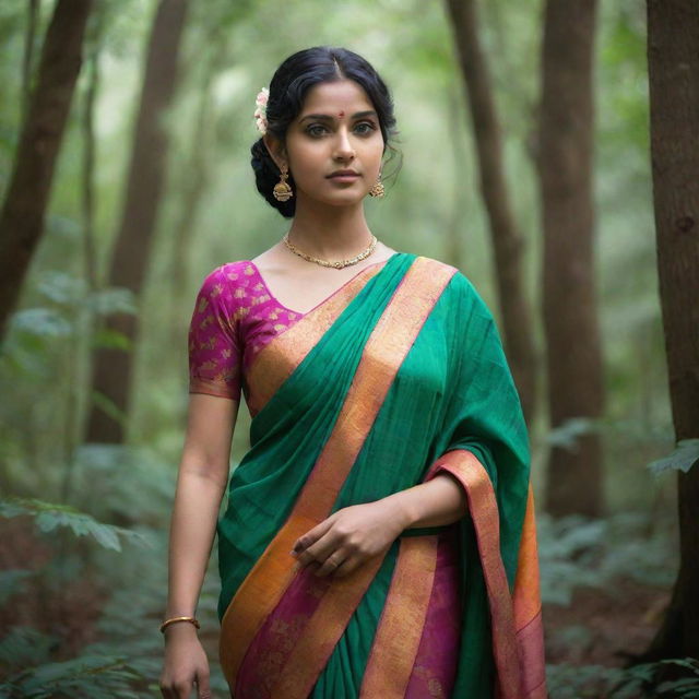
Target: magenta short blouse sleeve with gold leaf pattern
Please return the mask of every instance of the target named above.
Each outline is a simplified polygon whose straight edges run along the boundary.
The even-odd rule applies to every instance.
[[[206,276],[189,325],[189,392],[240,400],[241,352],[224,266]]]

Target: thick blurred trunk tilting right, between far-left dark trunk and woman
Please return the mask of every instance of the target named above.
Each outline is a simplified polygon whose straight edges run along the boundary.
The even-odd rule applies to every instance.
[[[177,56],[185,24],[187,0],[161,0],[151,36],[141,103],[135,122],[126,201],[116,238],[108,284],[131,289],[140,296],[144,284],[156,216],[166,173],[168,145],[164,123],[177,82]],[[112,313],[109,330],[125,335],[133,347],[138,317]],[[93,405],[87,419],[86,440],[119,443],[125,439],[129,412],[133,353],[100,347],[93,362]]]

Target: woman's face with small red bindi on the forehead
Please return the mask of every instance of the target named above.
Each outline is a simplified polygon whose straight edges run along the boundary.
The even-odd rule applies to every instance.
[[[340,80],[308,91],[288,127],[284,162],[299,202],[347,205],[367,196],[379,176],[382,154],[383,137],[371,100],[358,83]],[[275,159],[279,165],[281,158]],[[333,177],[342,169],[356,176]]]

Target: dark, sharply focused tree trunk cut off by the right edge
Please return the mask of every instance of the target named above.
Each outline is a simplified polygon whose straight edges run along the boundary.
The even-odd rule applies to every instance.
[[[699,438],[699,4],[648,0],[657,273],[675,438]],[[699,657],[699,462],[678,473],[680,566],[643,660]]]

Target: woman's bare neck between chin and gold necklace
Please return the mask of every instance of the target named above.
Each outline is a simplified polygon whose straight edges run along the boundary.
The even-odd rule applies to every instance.
[[[306,205],[303,192],[296,202],[288,239],[297,248],[323,260],[354,257],[371,242],[371,230],[364,216],[364,204],[330,206],[313,202]]]

